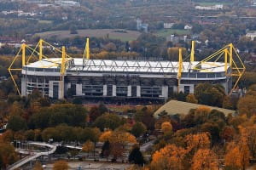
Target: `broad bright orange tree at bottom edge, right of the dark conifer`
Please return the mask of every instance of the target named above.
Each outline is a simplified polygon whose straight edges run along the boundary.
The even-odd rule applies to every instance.
[[[174,144],[168,144],[166,147],[154,152],[150,167],[153,170],[182,170],[184,168],[183,159],[186,153],[187,151],[182,147],[177,147]]]

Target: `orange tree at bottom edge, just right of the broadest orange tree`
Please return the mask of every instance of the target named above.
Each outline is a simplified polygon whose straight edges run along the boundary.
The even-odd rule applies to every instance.
[[[192,162],[192,170],[218,170],[217,156],[209,149],[197,150]]]

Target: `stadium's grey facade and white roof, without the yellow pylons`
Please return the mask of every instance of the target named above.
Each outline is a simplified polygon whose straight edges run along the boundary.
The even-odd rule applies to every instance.
[[[84,62],[83,65],[83,59],[69,59],[64,81],[60,79],[60,68],[52,65],[61,65],[61,59],[42,59],[24,66],[21,94],[25,96],[38,89],[44,96],[55,99],[67,95],[167,99],[177,90],[194,94],[200,82],[219,83],[226,93],[232,88],[232,79],[226,76],[224,63],[215,63],[218,66],[210,68],[207,63],[202,65],[207,71],[194,71],[192,68],[198,62],[183,62],[178,85],[178,62],[106,59],[85,59]]]

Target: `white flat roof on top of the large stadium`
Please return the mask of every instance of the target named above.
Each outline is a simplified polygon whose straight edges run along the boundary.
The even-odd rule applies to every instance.
[[[67,71],[113,71],[113,72],[153,72],[153,73],[177,73],[177,61],[147,61],[147,60],[109,60],[109,59],[83,59],[74,58]],[[190,72],[200,62],[183,62],[183,72]],[[36,61],[28,68],[57,68],[61,65],[61,58],[50,58]],[[228,65],[229,67],[229,65]],[[205,62],[201,64],[199,72],[224,72],[224,63]]]

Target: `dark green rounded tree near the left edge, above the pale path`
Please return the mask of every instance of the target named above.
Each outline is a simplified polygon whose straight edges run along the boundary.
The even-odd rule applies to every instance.
[[[26,130],[26,121],[21,116],[11,116],[7,128],[13,131]]]

